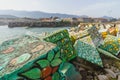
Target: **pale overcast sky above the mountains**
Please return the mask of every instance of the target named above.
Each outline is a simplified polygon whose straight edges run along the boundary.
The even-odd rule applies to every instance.
[[[120,0],[0,0],[0,9],[120,17]]]

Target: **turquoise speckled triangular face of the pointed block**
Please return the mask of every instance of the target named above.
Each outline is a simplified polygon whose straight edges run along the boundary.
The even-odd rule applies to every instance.
[[[93,64],[97,64],[98,66],[103,67],[101,57],[96,48],[78,40],[75,43],[75,50],[79,58],[85,59],[86,61],[89,61]]]

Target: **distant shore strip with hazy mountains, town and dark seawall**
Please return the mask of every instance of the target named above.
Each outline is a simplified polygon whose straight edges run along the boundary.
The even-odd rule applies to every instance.
[[[106,23],[120,19],[103,16],[98,18],[86,15],[46,13],[41,11],[0,10],[0,25],[9,27],[63,27],[77,26],[79,23]]]

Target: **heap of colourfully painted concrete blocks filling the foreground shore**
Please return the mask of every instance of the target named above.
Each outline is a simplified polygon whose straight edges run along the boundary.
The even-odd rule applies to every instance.
[[[0,80],[120,80],[117,26],[80,27],[3,42]]]

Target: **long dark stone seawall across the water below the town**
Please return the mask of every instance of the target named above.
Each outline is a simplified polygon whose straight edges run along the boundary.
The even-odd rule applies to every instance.
[[[9,22],[8,27],[64,27],[77,26],[79,23],[59,21],[59,22]]]

